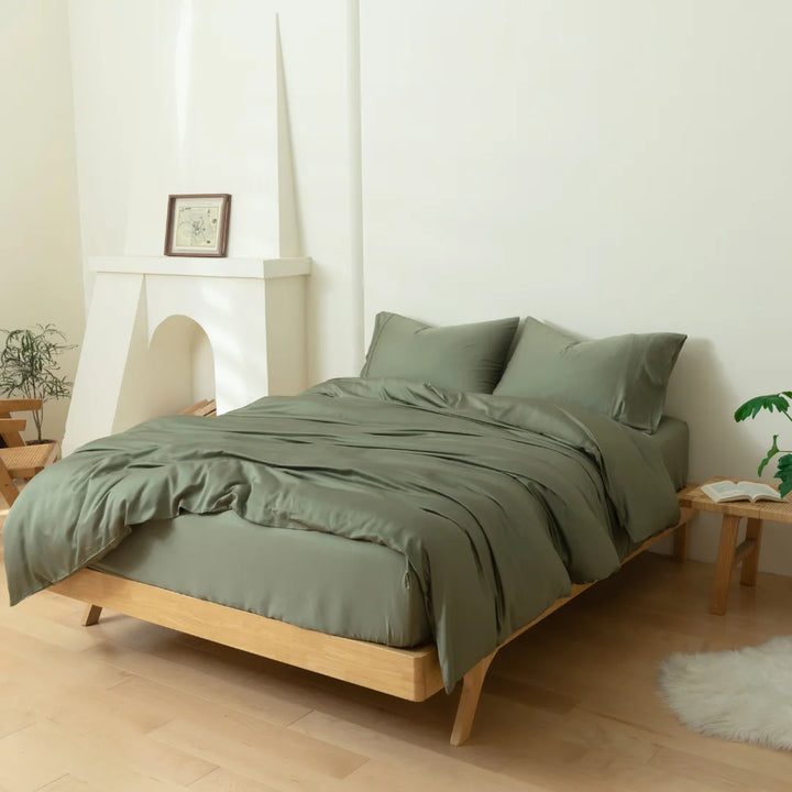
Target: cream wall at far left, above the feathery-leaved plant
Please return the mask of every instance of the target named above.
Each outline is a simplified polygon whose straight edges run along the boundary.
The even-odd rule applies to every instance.
[[[0,327],[52,322],[78,343],[84,310],[66,1],[4,0],[0,11]],[[77,352],[62,360],[74,377]],[[45,406],[44,435],[63,437],[66,409],[66,402]]]

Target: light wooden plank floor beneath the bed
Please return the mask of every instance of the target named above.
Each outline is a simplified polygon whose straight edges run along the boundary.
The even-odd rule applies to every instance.
[[[506,647],[470,743],[455,695],[411,704],[55,594],[7,606],[0,580],[2,792],[784,790],[792,755],[689,733],[656,692],[672,651],[792,634],[792,579],[734,584],[645,553]]]

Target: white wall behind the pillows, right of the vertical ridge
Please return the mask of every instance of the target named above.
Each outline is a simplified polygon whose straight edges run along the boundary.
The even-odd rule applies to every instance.
[[[389,308],[686,332],[668,411],[691,476],[756,476],[785,421],[732,413],[792,385],[792,4],[361,10],[369,327]],[[701,519],[693,554],[714,540]],[[790,531],[768,526],[761,564],[792,574]]]

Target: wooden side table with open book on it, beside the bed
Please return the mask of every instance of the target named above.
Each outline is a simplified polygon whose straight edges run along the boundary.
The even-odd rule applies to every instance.
[[[713,482],[727,481],[725,477],[711,479]],[[738,481],[729,479],[728,481]],[[767,482],[763,482],[767,483]],[[772,486],[772,485],[771,485]],[[710,613],[723,615],[728,603],[728,590],[732,583],[732,570],[743,564],[740,583],[756,585],[761,549],[762,520],[792,522],[792,493],[781,502],[776,501],[732,501],[715,503],[701,491],[701,486],[692,485],[679,493],[680,506],[695,512],[715,512],[723,515],[721,524],[721,544],[715,562],[715,579],[710,597]],[[743,518],[747,519],[746,538],[737,544],[737,532]]]

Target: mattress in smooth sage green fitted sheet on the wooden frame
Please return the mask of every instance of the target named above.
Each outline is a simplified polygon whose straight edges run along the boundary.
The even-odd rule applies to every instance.
[[[689,431],[663,417],[650,441],[676,490]],[[619,547],[624,557],[635,546]],[[248,522],[233,512],[183,514],[135,526],[92,569],[299,627],[394,647],[432,640],[420,586],[404,556],[382,544]]]

